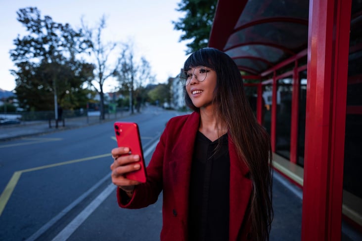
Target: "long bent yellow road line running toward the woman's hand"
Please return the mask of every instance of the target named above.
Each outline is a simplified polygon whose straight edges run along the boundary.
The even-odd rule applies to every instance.
[[[53,138],[53,139],[55,139],[55,138]],[[1,193],[0,216],[6,206],[7,201],[9,201],[10,196],[11,196],[12,192],[14,191],[15,186],[18,183],[22,173],[42,170],[42,169],[51,168],[51,167],[60,166],[60,165],[72,164],[72,163],[81,162],[81,161],[89,161],[89,160],[94,160],[94,159],[104,158],[104,157],[109,157],[109,156],[111,156],[111,154],[103,154],[103,155],[98,155],[98,156],[93,156],[93,157],[88,157],[88,158],[81,158],[81,159],[76,159],[76,160],[72,160],[72,161],[64,161],[64,162],[54,163],[54,164],[50,164],[50,165],[38,166],[38,167],[34,167],[34,168],[15,171],[14,174],[12,174],[10,181],[7,183],[4,191]]]

